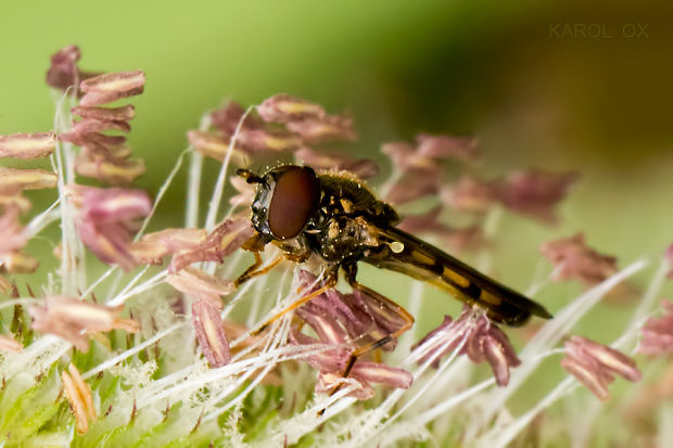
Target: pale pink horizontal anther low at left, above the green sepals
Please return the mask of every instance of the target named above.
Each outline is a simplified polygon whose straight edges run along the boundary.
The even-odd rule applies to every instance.
[[[48,296],[45,305],[28,308],[33,317],[31,328],[41,333],[55,334],[72,343],[77,349],[89,349],[90,333],[125,330],[137,332],[140,327],[130,319],[116,315],[120,307],[106,307],[65,296]]]

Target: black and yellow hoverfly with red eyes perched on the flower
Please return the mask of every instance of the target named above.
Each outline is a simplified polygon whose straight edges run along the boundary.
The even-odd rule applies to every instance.
[[[255,255],[255,263],[236,281],[237,285],[270,270],[282,259],[296,263],[318,255],[327,264],[323,286],[277,313],[257,331],[262,332],[285,312],[334,287],[339,272],[356,290],[394,310],[405,322],[399,330],[357,348],[344,376],[357,357],[398,337],[414,318],[393,300],[360,284],[359,261],[402,272],[431,283],[470,306],[479,306],[496,322],[522,325],[532,315],[549,319],[539,304],[484,276],[440,248],[395,227],[399,216],[378,200],[361,181],[348,174],[317,175],[308,166],[283,165],[256,176],[247,169],[237,174],[257,185],[252,204],[252,225],[256,233],[243,248]],[[275,243],[282,255],[258,269],[259,253]]]

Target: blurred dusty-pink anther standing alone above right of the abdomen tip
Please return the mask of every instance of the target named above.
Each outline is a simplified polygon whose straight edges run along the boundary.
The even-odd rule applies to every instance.
[[[617,272],[617,258],[601,255],[586,245],[584,233],[550,241],[539,248],[556,267],[554,280],[577,279],[594,286]]]

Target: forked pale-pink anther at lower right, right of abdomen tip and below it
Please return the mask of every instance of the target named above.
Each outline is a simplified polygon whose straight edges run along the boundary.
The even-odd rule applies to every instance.
[[[608,385],[614,381],[614,374],[631,382],[642,376],[635,361],[626,355],[580,336],[566,343],[561,367],[602,401],[610,399]]]

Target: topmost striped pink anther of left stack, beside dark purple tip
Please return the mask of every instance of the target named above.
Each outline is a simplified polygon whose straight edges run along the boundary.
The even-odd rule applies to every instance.
[[[140,94],[144,89],[144,80],[142,71],[106,73],[86,79],[79,84],[85,92],[79,104],[96,106]]]

